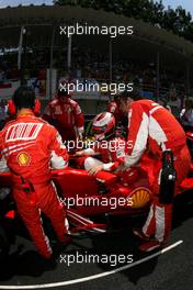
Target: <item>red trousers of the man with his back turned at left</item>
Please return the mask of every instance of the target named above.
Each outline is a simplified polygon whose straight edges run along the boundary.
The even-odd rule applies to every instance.
[[[30,235],[38,250],[45,258],[50,258],[52,248],[49,241],[44,233],[41,220],[41,211],[49,217],[58,239],[65,242],[66,213],[59,202],[53,182],[47,185],[33,185],[34,191],[25,192],[21,185],[13,187],[13,197],[16,202],[18,211],[23,219]]]

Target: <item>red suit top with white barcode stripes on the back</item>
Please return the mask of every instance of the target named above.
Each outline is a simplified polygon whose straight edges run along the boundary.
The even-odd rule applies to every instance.
[[[68,161],[66,147],[56,129],[33,115],[32,111],[4,126],[0,148],[9,168],[33,183],[42,183],[50,178],[52,156],[60,158],[61,167]]]

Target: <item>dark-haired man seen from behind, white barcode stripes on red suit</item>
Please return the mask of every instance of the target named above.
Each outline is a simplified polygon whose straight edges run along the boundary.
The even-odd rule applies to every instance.
[[[16,119],[0,133],[1,155],[7,159],[13,183],[13,198],[30,235],[42,256],[52,257],[52,248],[42,222],[43,211],[52,222],[61,243],[68,238],[66,212],[50,180],[50,166],[65,168],[68,154],[55,127],[33,112],[35,94],[20,87],[13,96]]]

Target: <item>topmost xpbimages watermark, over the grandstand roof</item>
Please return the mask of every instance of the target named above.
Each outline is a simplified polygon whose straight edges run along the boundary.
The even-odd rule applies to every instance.
[[[67,35],[110,35],[110,37],[115,38],[118,35],[132,35],[134,33],[134,26],[98,26],[89,25],[87,22],[84,24],[76,23],[75,25],[59,26],[59,34]]]

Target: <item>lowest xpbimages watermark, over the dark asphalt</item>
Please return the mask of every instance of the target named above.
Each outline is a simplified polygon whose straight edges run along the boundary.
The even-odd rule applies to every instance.
[[[65,264],[68,267],[75,263],[77,264],[109,264],[111,267],[115,267],[118,264],[132,264],[134,261],[134,255],[124,255],[124,254],[88,254],[87,250],[84,254],[79,253],[78,250],[75,254],[65,254],[59,256],[59,263]]]

